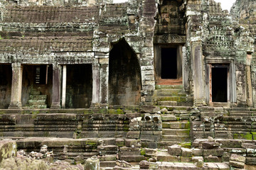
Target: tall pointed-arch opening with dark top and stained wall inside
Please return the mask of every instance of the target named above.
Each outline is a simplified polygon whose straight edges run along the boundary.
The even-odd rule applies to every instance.
[[[110,51],[110,105],[137,105],[140,102],[142,79],[137,55],[124,40]]]

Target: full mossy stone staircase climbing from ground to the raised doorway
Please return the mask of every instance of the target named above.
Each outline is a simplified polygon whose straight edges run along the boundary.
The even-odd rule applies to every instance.
[[[156,85],[154,103],[161,108],[162,140],[159,148],[179,144],[190,147],[190,110],[193,96],[188,96],[181,85]]]

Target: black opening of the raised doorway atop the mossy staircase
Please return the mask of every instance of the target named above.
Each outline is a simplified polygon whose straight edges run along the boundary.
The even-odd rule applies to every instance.
[[[161,79],[177,79],[176,48],[161,48]]]

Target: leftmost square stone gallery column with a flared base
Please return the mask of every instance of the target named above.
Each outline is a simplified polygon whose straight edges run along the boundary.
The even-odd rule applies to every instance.
[[[21,91],[22,91],[22,71],[23,67],[20,63],[11,64],[12,80],[11,80],[11,103],[9,109],[22,108]]]

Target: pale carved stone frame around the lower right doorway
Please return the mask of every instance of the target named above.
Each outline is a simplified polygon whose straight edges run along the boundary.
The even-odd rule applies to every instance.
[[[236,81],[235,81],[235,63],[233,59],[223,59],[220,57],[206,57],[206,103],[211,101],[211,69],[213,64],[228,64],[228,102],[236,102]]]

